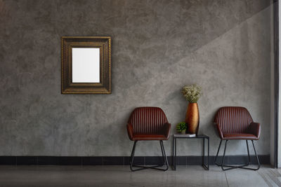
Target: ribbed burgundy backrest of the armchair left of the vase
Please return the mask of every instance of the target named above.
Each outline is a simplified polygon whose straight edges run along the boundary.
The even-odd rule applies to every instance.
[[[158,134],[168,120],[158,107],[139,107],[133,110],[128,123],[133,125],[133,133]]]

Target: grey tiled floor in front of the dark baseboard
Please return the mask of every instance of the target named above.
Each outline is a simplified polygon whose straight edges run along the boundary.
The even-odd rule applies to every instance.
[[[178,166],[176,171],[143,170],[129,166],[0,166],[0,186],[281,186],[281,170],[222,172],[211,166]]]

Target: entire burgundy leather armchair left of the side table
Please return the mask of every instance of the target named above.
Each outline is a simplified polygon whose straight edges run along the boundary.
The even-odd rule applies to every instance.
[[[169,168],[169,163],[166,158],[166,153],[163,146],[163,140],[169,139],[171,131],[171,124],[168,123],[166,115],[162,109],[158,107],[139,107],[133,110],[127,123],[127,132],[129,139],[134,141],[133,150],[131,152],[130,168],[131,171],[137,171],[141,169],[159,169],[166,171]],[[159,140],[162,151],[163,164],[155,166],[140,166],[133,165],[133,156],[136,148],[137,141],[142,140]],[[166,164],[166,168],[162,167]],[[140,167],[133,169],[133,167]]]

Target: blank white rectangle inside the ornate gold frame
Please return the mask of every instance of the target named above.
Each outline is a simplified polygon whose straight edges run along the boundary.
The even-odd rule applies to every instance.
[[[72,48],[72,83],[100,83],[100,48]]]

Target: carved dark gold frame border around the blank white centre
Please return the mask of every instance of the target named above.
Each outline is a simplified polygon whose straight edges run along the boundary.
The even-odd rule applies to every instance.
[[[72,83],[72,48],[100,48],[100,83]],[[62,94],[111,94],[110,36],[63,36],[61,57]]]

